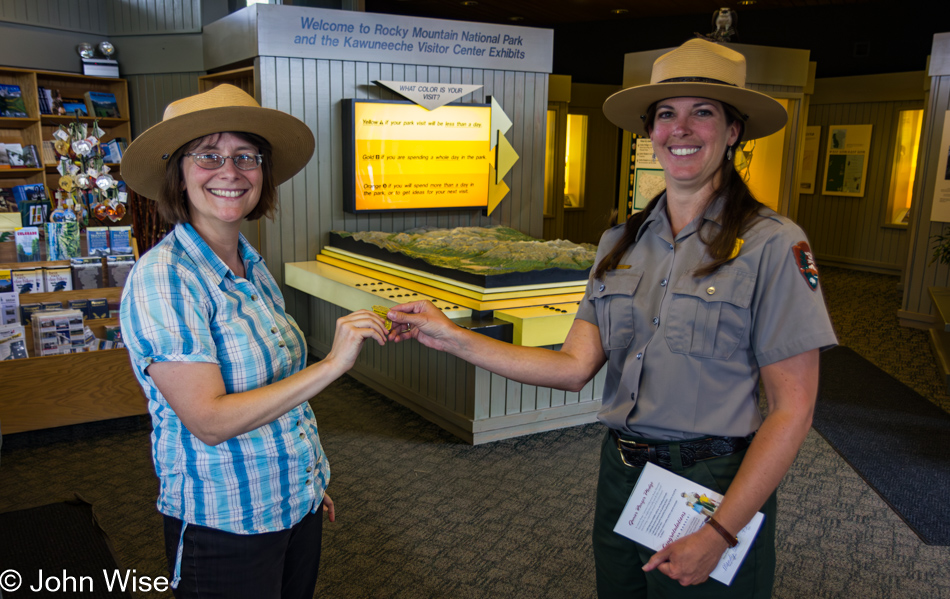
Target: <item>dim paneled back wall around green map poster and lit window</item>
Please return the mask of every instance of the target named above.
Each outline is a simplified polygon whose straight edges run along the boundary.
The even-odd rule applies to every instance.
[[[816,82],[816,87],[819,82]],[[816,104],[808,124],[821,126],[816,188],[821,189],[828,134],[836,125],[873,125],[863,197],[799,196],[797,222],[805,229],[815,257],[824,264],[900,274],[907,259],[906,227],[887,224],[887,195],[901,110],[923,108],[921,100]]]

